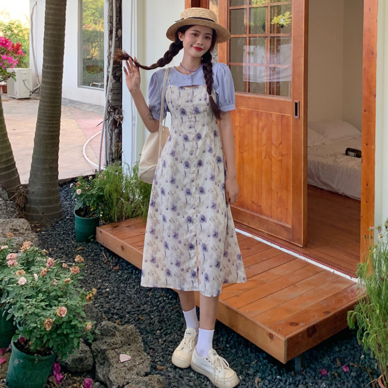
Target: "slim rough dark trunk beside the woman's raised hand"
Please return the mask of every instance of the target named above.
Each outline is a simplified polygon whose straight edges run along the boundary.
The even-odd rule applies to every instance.
[[[110,52],[112,49],[112,34],[113,34],[113,1],[116,2],[116,37],[114,49],[122,47],[122,0],[108,1],[108,58],[107,58],[107,74],[111,65]],[[122,65],[113,64],[112,72],[112,89],[108,98],[108,112],[106,117],[106,139],[105,152],[106,164],[121,161],[122,153],[122,122],[123,122],[123,106],[122,106]]]

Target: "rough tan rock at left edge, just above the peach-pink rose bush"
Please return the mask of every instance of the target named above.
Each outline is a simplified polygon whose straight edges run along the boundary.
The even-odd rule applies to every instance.
[[[1,202],[1,200],[0,200]],[[12,242],[19,249],[23,242],[31,241],[33,246],[38,246],[38,236],[31,231],[31,226],[24,218],[1,219],[0,218],[0,245],[9,240],[7,233],[13,233]]]

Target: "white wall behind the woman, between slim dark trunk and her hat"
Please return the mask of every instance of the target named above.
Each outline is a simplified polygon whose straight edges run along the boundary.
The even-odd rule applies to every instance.
[[[138,61],[144,65],[152,65],[161,58],[167,51],[171,41],[166,37],[167,28],[178,20],[180,13],[184,10],[184,0],[152,1],[152,0],[131,0],[123,2],[123,48],[129,51],[133,46],[131,39],[131,12],[135,3],[137,38],[136,47],[132,48],[130,55],[136,55]],[[169,66],[179,65],[181,55],[169,64]],[[141,88],[148,102],[148,83],[155,70],[141,70]],[[123,84],[123,158],[131,164],[139,159],[144,141],[148,131],[141,121],[139,115],[131,106],[132,99],[125,84]],[[133,126],[134,125],[134,126]],[[167,120],[167,126],[170,123]],[[132,129],[133,128],[133,129]],[[136,133],[133,133],[133,130]],[[133,142],[136,144],[134,145]]]

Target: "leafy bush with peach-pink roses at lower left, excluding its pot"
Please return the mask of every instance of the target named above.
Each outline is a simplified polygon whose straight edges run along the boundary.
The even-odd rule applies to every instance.
[[[80,286],[80,255],[69,263],[29,247],[8,253],[1,265],[1,303],[18,327],[19,340],[14,345],[19,350],[31,355],[54,352],[65,359],[79,347],[81,338],[93,339],[94,323],[86,319],[83,309],[96,290],[86,292]]]

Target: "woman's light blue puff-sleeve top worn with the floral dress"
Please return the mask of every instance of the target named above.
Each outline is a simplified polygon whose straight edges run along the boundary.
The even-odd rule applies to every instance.
[[[148,86],[148,106],[153,117],[160,120],[162,104],[162,88],[165,69],[157,70],[151,76]],[[193,74],[180,73],[175,67],[171,67],[168,73],[167,85],[180,87],[205,85],[205,77],[202,66]],[[232,74],[227,65],[217,63],[213,65],[213,91],[217,95],[217,105],[223,112],[233,111],[235,106],[235,94]],[[164,98],[164,117],[170,112]],[[164,118],[163,117],[163,118]]]

